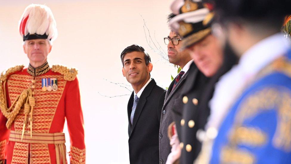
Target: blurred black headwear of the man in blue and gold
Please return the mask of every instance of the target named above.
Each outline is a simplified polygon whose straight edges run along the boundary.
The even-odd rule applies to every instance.
[[[219,22],[241,19],[251,24],[280,28],[284,16],[291,13],[290,0],[215,0]]]

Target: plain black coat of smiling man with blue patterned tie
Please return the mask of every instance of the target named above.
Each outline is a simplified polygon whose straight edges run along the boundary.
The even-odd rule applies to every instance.
[[[131,164],[159,163],[159,127],[164,99],[165,90],[151,79],[140,95],[131,125],[130,115],[134,102],[132,92],[127,105]]]

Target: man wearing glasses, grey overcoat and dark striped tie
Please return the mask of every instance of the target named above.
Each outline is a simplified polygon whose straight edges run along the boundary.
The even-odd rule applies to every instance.
[[[175,15],[170,14],[168,20],[172,19]],[[165,103],[162,108],[161,124],[160,124],[160,164],[166,163],[167,157],[171,152],[170,140],[167,137],[168,127],[174,121],[172,111],[181,113],[182,111],[182,96],[181,92],[184,88],[184,82],[188,75],[188,69],[192,63],[189,53],[180,51],[182,38],[174,31],[171,31],[168,37],[164,38],[165,44],[168,45],[169,62],[181,67],[181,71],[171,82],[165,96]]]

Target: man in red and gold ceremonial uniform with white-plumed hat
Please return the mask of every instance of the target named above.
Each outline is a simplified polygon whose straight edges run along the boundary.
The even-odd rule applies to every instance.
[[[67,119],[70,163],[85,163],[83,114],[77,71],[47,63],[57,37],[49,7],[29,5],[20,21],[28,68],[16,66],[0,76],[0,164],[66,164]]]

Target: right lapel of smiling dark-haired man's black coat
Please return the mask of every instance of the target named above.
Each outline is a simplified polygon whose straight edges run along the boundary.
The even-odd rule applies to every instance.
[[[143,90],[143,93],[140,95],[140,98],[137,102],[137,107],[135,109],[134,117],[133,117],[133,123],[132,123],[132,128],[131,128],[131,134],[134,131],[135,125],[137,124],[138,118],[140,117],[140,114],[143,110],[143,107],[146,104],[147,97],[151,94],[151,90],[154,88],[156,85],[156,82],[154,79],[151,79],[151,82],[148,83],[146,88]],[[129,121],[130,121],[130,116],[129,116]],[[130,136],[131,136],[130,134]],[[130,138],[129,136],[129,138]]]

